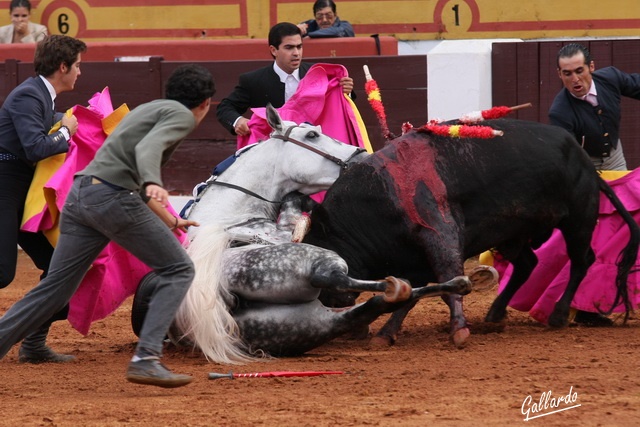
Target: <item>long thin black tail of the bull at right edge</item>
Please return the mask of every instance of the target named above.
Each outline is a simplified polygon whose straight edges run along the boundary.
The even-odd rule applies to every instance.
[[[624,222],[629,227],[629,242],[622,249],[616,260],[618,266],[618,273],[616,274],[616,297],[611,304],[609,310],[602,311],[603,314],[611,314],[613,309],[619,304],[624,303],[625,316],[624,323],[627,323],[629,319],[629,313],[633,311],[631,300],[629,299],[629,289],[627,287],[627,279],[629,274],[634,272],[632,270],[638,258],[638,246],[640,245],[640,227],[635,221],[633,216],[629,213],[627,208],[622,204],[622,201],[618,198],[613,189],[606,183],[605,180],[600,178],[600,191],[611,201],[616,208]]]

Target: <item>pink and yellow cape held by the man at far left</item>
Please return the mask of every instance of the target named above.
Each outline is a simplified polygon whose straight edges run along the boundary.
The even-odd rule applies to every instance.
[[[45,232],[54,246],[58,236],[58,216],[75,173],[93,159],[128,108],[123,105],[114,111],[109,90],[105,88],[89,100],[89,108],[76,105],[73,112],[78,118],[78,131],[70,140],[69,152],[66,157],[61,155],[38,164],[25,206],[25,211],[30,214],[25,214],[22,227],[27,231]],[[177,236],[184,240],[182,232]],[[69,322],[86,335],[92,322],[113,313],[134,294],[140,279],[149,271],[149,267],[133,255],[110,243],[94,261],[71,298]]]

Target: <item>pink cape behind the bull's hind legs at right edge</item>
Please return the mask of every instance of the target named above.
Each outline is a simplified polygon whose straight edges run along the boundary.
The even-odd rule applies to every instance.
[[[636,222],[640,222],[640,169],[609,182],[609,185]],[[616,258],[628,241],[629,228],[609,199],[601,193],[600,216],[591,241],[596,261],[580,284],[571,302],[572,308],[589,312],[598,312],[598,307],[602,310],[611,308],[616,293]],[[535,253],[539,263],[529,280],[511,299],[509,306],[516,310],[529,311],[531,317],[546,324],[555,303],[567,286],[571,264],[564,238],[558,230],[554,230],[551,238]],[[636,261],[635,269],[639,266],[640,259]],[[498,292],[502,292],[511,277],[513,266],[504,260],[496,260],[495,267],[501,277]],[[629,296],[634,308],[640,305],[639,279],[638,272],[629,275]],[[624,311],[624,305],[618,305],[614,311]]]

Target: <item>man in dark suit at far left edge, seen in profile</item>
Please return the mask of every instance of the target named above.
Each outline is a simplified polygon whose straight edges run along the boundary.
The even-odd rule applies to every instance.
[[[80,76],[81,54],[86,49],[84,42],[67,36],[49,36],[39,42],[33,61],[37,76],[11,91],[0,109],[0,288],[15,277],[18,245],[43,271],[41,279],[47,275],[53,247],[42,233],[20,231],[20,224],[36,163],[66,153],[69,138],[78,129],[75,116],[55,113],[54,101],[58,94],[73,90]],[[57,121],[61,121],[60,130],[49,134]],[[67,318],[67,307],[60,309],[24,339],[21,362],[75,359],[46,345],[51,323]]]

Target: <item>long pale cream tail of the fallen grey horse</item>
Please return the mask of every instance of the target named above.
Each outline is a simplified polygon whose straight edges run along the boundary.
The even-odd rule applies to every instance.
[[[233,300],[223,277],[223,254],[230,237],[222,225],[203,226],[187,246],[195,265],[195,278],[176,315],[183,338],[217,363],[242,364],[255,361],[240,337],[229,312]]]

